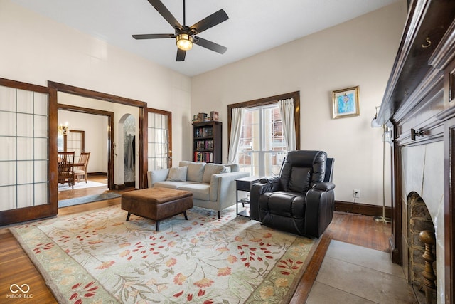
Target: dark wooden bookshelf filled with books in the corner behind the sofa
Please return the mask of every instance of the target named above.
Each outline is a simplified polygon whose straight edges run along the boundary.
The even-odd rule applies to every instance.
[[[219,121],[193,123],[193,162],[221,163],[221,127]]]

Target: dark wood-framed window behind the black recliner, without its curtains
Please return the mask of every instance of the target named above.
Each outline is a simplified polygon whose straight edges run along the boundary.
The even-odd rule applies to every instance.
[[[287,150],[278,101],[287,98],[294,99],[296,146],[299,149],[299,92],[228,105],[228,135],[230,135],[231,109],[245,108],[240,145],[237,152],[241,171],[250,172],[256,176],[279,174]]]

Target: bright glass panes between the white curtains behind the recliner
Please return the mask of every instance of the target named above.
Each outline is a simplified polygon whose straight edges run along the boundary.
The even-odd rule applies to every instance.
[[[279,174],[287,150],[277,103],[245,109],[238,162],[256,176]]]

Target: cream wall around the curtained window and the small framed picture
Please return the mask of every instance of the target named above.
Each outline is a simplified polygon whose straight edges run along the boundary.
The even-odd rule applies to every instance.
[[[191,111],[220,113],[225,162],[229,104],[298,90],[301,150],[325,150],[335,158],[336,199],[353,201],[353,189],[360,189],[356,202],[382,205],[382,130],[372,129],[370,122],[382,102],[406,14],[403,0],[195,76]],[[355,85],[360,85],[360,116],[333,120],[331,91]],[[184,157],[190,158],[188,153]],[[390,195],[386,199],[390,206]]]

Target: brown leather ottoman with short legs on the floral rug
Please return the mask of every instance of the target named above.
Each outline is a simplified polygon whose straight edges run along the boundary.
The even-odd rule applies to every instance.
[[[131,214],[156,221],[156,231],[159,231],[159,221],[183,213],[193,207],[193,193],[189,191],[148,188],[122,194],[122,209],[128,211],[127,221]]]

